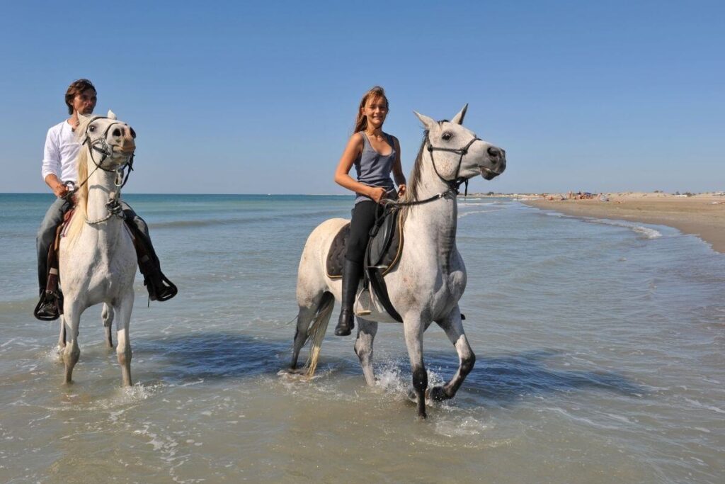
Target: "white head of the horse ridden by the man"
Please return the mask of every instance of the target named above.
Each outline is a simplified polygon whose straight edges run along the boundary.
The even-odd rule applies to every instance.
[[[89,158],[98,168],[115,171],[127,165],[136,150],[136,131],[119,121],[113,111],[107,116],[78,115],[81,145],[88,147]]]

